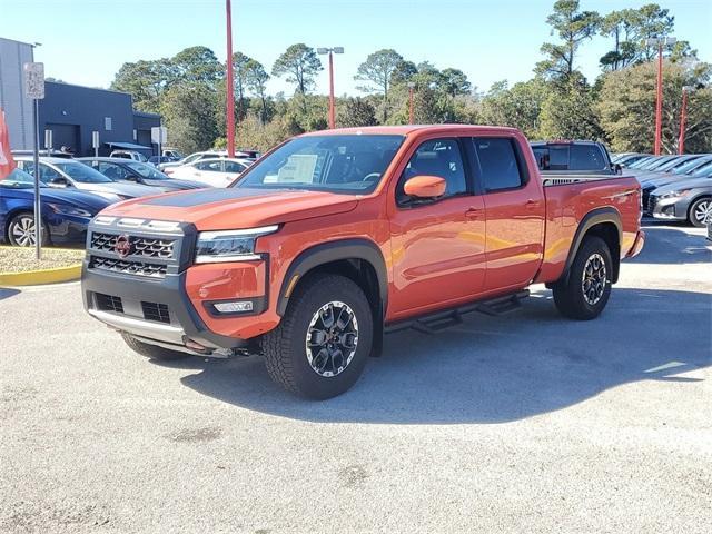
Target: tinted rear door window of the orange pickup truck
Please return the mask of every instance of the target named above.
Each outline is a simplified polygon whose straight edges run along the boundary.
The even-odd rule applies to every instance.
[[[524,185],[516,150],[508,138],[475,138],[479,177],[486,191],[514,189]]]

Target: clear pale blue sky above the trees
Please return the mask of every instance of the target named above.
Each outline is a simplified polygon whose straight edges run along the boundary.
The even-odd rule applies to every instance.
[[[345,48],[335,57],[336,93],[357,95],[354,80],[368,53],[393,48],[414,62],[462,69],[478,90],[506,79],[532,77],[550,36],[546,16],[554,0],[233,0],[234,50],[268,71],[295,42]],[[582,9],[604,14],[650,0],[582,0]],[[712,61],[712,2],[660,0],[675,17],[675,37]],[[70,83],[108,87],[126,61],[174,56],[204,44],[225,60],[224,0],[0,0],[0,37],[40,42],[36,61],[46,76]],[[555,42],[552,41],[552,42]],[[585,76],[599,73],[611,39],[586,41],[576,60]],[[325,57],[323,57],[325,59]],[[327,93],[325,70],[316,92]],[[273,79],[271,93],[294,88]]]

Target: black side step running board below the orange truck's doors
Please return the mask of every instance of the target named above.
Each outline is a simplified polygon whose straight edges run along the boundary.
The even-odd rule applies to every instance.
[[[477,303],[467,304],[454,309],[447,309],[445,312],[436,312],[415,319],[407,319],[398,323],[386,325],[384,332],[392,334],[394,332],[405,330],[413,328],[414,330],[422,332],[423,334],[436,334],[437,332],[462,324],[463,315],[473,312],[479,312],[481,314],[490,316],[502,316],[510,314],[522,307],[522,299],[530,296],[528,289],[522,291],[505,295],[503,297],[491,298],[487,300],[481,300]]]

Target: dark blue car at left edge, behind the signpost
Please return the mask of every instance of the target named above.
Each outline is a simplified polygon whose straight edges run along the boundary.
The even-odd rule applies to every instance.
[[[42,244],[85,243],[89,221],[110,204],[97,195],[40,184]],[[23,170],[0,180],[0,241],[34,245],[34,178]]]

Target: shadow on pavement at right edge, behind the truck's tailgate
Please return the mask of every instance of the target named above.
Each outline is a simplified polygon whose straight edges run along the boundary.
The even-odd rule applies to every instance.
[[[710,241],[703,234],[690,233],[683,224],[671,227],[646,221],[643,230],[647,235],[645,247],[639,256],[626,259],[632,264],[712,264]],[[686,229],[686,231],[685,231]],[[702,228],[700,228],[702,230]]]

